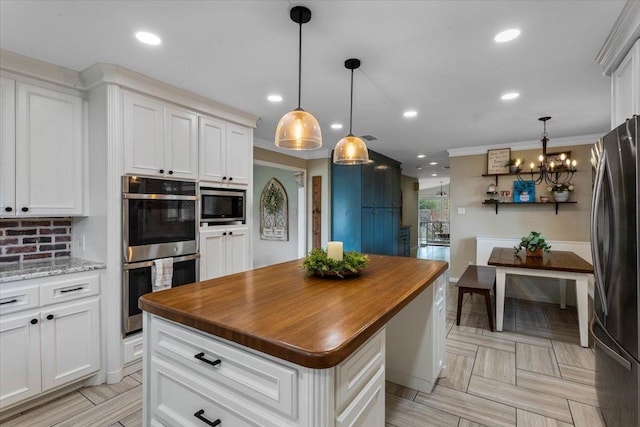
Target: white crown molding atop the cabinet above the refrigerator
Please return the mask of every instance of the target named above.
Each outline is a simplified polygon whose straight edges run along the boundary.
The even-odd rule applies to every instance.
[[[640,1],[627,0],[596,56],[596,62],[602,65],[605,75],[610,76],[618,68],[631,46],[639,38]]]

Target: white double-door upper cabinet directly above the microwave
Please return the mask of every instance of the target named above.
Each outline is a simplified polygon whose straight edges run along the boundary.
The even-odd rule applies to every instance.
[[[249,185],[252,131],[211,117],[200,117],[200,180]]]

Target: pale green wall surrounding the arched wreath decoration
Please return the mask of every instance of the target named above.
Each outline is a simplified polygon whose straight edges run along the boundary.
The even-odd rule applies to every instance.
[[[262,240],[260,238],[260,196],[271,178],[276,178],[288,197],[289,239]],[[298,258],[298,184],[292,171],[268,166],[253,167],[253,267],[277,264]]]

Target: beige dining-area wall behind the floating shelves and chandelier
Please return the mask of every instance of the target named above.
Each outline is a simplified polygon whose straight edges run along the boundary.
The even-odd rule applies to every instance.
[[[594,140],[595,142],[595,140]],[[550,152],[571,151],[578,161],[578,171],[573,177],[575,191],[569,200],[577,204],[560,205],[558,215],[555,205],[500,206],[496,215],[491,205],[483,205],[487,187],[495,182],[486,173],[486,154],[451,157],[451,277],[460,277],[469,262],[475,263],[475,237],[518,238],[531,230],[542,232],[549,240],[589,241],[589,215],[591,208],[592,145],[554,147]],[[512,151],[512,158],[525,158],[526,164],[535,161],[540,149]],[[511,190],[515,176],[501,177],[498,190]],[[546,194],[546,185],[536,186],[536,200]],[[461,215],[458,208],[464,208]]]

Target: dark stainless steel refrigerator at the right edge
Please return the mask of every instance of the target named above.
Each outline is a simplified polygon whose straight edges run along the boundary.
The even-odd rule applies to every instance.
[[[609,427],[640,426],[639,136],[636,115],[602,137],[591,157],[596,288],[591,334],[598,402]]]

